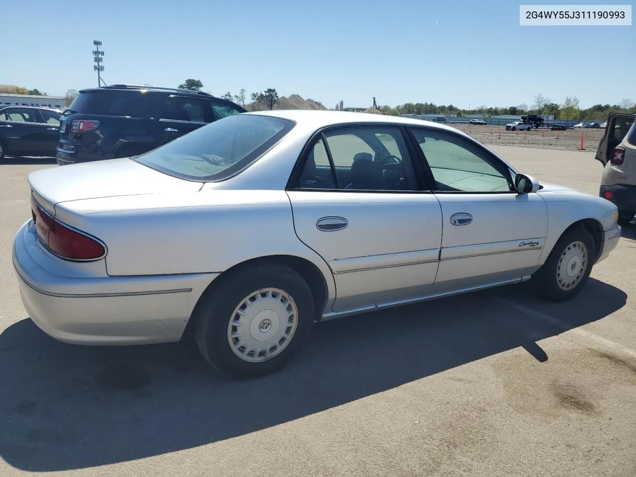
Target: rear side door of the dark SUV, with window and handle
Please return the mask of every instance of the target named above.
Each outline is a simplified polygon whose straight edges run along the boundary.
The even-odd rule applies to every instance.
[[[163,103],[159,123],[163,142],[170,142],[211,122],[210,108],[203,98],[170,95]]]

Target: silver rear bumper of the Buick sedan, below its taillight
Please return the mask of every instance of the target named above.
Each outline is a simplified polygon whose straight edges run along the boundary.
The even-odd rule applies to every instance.
[[[178,341],[218,275],[110,277],[99,263],[69,262],[46,251],[32,221],[15,237],[13,266],[32,321],[57,340],[83,345]]]

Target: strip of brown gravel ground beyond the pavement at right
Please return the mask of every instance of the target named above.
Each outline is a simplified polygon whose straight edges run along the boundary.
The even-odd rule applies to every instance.
[[[488,146],[517,146],[522,148],[558,149],[561,151],[583,151],[596,153],[598,141],[605,133],[604,129],[569,129],[553,131],[550,129],[525,131],[506,131],[504,126],[457,126],[474,139]],[[501,137],[499,134],[501,133]],[[557,137],[558,135],[558,137]]]

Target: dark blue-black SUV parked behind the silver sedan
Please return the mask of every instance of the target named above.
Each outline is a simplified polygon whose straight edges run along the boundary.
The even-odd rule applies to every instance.
[[[60,123],[57,163],[130,157],[247,110],[209,93],[156,86],[81,90]]]

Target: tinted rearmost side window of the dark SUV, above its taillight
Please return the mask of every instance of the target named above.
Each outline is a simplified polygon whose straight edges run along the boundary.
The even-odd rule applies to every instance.
[[[102,90],[80,92],[69,109],[83,114],[142,118],[148,106],[148,93],[141,90]]]

